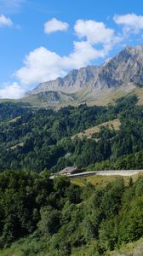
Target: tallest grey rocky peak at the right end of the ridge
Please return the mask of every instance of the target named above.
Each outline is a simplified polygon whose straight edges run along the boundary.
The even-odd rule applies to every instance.
[[[111,88],[123,84],[143,84],[143,46],[123,49],[99,68],[92,88]]]

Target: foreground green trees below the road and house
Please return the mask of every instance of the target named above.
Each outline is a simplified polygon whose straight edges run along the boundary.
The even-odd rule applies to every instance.
[[[143,234],[142,176],[81,188],[67,177],[49,179],[48,171],[7,171],[0,184],[0,255],[100,256]]]

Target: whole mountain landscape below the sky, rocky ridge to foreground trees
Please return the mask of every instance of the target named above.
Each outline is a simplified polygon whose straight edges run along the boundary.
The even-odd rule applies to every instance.
[[[0,255],[142,252],[140,60],[140,48],[124,49],[0,101]],[[65,168],[81,173],[59,175]]]

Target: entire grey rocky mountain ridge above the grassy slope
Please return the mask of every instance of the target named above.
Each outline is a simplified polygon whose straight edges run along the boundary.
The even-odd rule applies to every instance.
[[[100,67],[74,69],[64,78],[39,84],[26,96],[49,90],[77,93],[80,90],[96,91],[135,84],[143,84],[143,45],[126,47]]]

